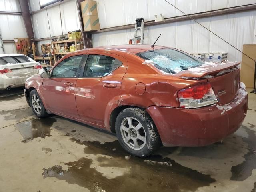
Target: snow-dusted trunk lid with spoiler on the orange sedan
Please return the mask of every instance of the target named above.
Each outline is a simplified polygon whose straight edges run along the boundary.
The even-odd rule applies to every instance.
[[[183,78],[204,78],[210,82],[219,104],[227,104],[237,96],[240,84],[240,62],[221,64],[206,62],[200,67],[175,74]]]

